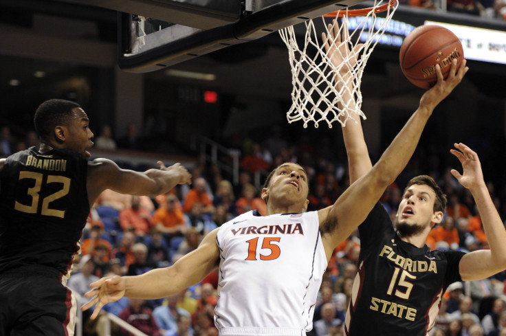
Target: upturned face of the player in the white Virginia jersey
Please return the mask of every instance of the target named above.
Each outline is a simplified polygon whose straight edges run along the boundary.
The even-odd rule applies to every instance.
[[[290,203],[304,203],[307,200],[309,187],[307,185],[307,175],[298,164],[282,164],[272,176],[269,183],[267,197],[273,195],[276,199]],[[264,196],[264,192],[262,196]]]

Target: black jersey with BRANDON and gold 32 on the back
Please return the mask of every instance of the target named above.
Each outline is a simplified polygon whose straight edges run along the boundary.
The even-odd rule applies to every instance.
[[[32,147],[8,157],[0,179],[0,273],[38,264],[66,275],[89,214],[87,158]]]

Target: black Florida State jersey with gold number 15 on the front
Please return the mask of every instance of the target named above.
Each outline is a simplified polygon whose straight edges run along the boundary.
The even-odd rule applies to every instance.
[[[461,251],[406,243],[377,203],[359,226],[360,257],[345,321],[349,336],[425,336],[446,287],[461,281]]]

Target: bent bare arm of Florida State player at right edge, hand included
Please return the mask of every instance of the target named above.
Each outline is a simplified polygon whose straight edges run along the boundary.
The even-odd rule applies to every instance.
[[[506,269],[506,230],[490,197],[483,179],[478,155],[465,144],[454,144],[450,152],[462,164],[462,175],[452,169],[452,175],[469,189],[483,222],[490,249],[472,251],[465,254],[459,263],[459,271],[464,281],[488,278]]]

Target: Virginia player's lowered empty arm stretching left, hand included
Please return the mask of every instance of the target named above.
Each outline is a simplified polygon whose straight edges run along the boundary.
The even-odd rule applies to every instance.
[[[105,304],[123,296],[145,300],[165,298],[201,282],[218,266],[217,232],[214,229],[207,234],[197,249],[170,267],[153,269],[140,276],[113,276],[92,282],[91,290],[85,294],[91,300],[81,309],[85,311],[96,304],[91,315],[94,319]]]

